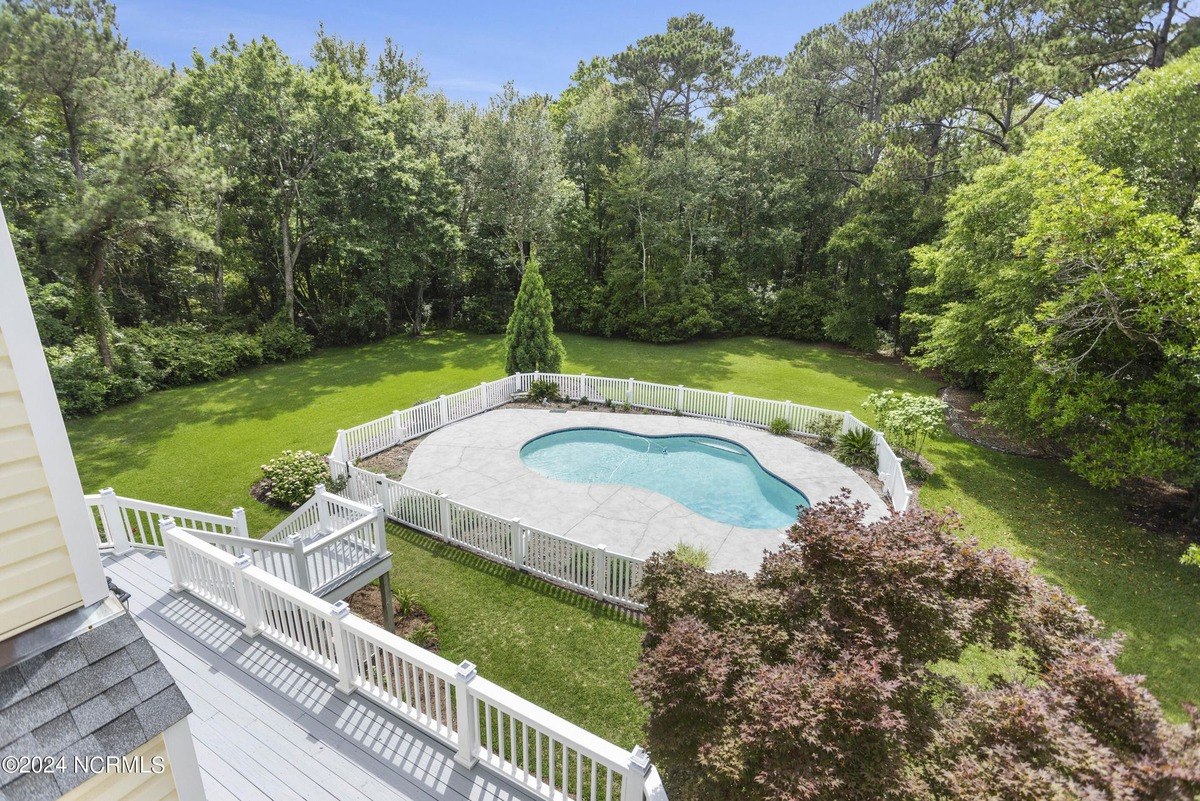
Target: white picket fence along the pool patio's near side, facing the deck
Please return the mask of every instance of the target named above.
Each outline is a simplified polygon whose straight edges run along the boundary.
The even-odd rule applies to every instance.
[[[342,489],[347,498],[378,504],[410,529],[600,601],[646,609],[632,595],[644,560],[491,514],[354,464],[331,459],[330,469],[347,478]]]

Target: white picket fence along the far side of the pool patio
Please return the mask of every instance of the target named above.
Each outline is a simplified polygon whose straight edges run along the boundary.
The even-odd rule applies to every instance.
[[[533,381],[553,381],[563,397],[578,401],[629,404],[631,408],[654,411],[679,412],[689,417],[720,420],[739,426],[768,428],[774,420],[786,420],[793,432],[816,435],[829,421],[840,430],[869,428],[866,423],[848,411],[833,411],[806,406],[791,401],[751,398],[733,392],[714,392],[688,386],[671,386],[638,381],[632,378],[605,378],[599,375],[575,375],[568,373],[516,373],[496,381],[454,395],[440,396],[436,401],[418,404],[403,411],[394,411],[385,417],[337,432],[337,440],[330,459],[353,464],[361,458],[378,453],[410,439],[424,436],[432,430],[466,417],[502,406],[520,392],[528,392]],[[876,432],[875,451],[878,456],[876,474],[883,483],[883,492],[893,508],[908,508],[912,493],[904,477],[901,459]]]

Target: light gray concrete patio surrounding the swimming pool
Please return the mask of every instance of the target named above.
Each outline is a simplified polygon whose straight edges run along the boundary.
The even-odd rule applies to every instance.
[[[868,506],[866,520],[888,514],[887,504],[853,470],[787,436],[754,428],[670,415],[571,409],[496,409],[440,428],[408,458],[404,483],[502,517],[614,553],[647,558],[683,541],[712,554],[710,570],[752,573],[764,550],[784,541],[782,529],[718,523],[640,487],[584,484],[550,478],[521,462],[521,446],[564,428],[616,428],[634,434],[724,436],[746,447],[763,468],[816,504],[845,487]]]

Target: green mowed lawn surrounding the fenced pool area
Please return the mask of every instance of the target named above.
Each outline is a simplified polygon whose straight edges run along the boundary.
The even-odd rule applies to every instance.
[[[860,408],[872,391],[932,392],[890,362],[772,339],[646,345],[564,337],[568,369]],[[326,452],[337,428],[500,375],[497,337],[446,333],[325,350],[211,384],[155,393],[70,426],[89,490],[202,510],[245,506],[252,529],[278,514],[246,493],[258,465],[286,447]],[[1176,562],[1181,542],[1122,522],[1114,500],[1062,466],[1008,457],[944,434],[926,506],[953,506],[986,544],[1038,568],[1128,634],[1123,667],[1145,673],[1172,715],[1200,699],[1200,571]],[[571,594],[428,538],[392,530],[398,584],[434,616],[442,650],[484,675],[625,746],[643,712],[629,689],[636,626]]]

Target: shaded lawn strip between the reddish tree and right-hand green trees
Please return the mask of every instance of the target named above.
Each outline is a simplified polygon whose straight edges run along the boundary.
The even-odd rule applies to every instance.
[[[940,441],[926,493],[953,490],[970,534],[1033,559],[1038,571],[1126,634],[1122,663],[1151,674],[1169,711],[1200,700],[1200,571],[1178,564],[1183,543],[1122,523],[1120,500],[1061,463]],[[931,506],[929,500],[924,500]],[[967,506],[973,504],[974,506]],[[989,520],[990,518],[990,520]],[[997,529],[989,534],[989,522]],[[1014,544],[1015,543],[1015,544]]]

